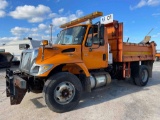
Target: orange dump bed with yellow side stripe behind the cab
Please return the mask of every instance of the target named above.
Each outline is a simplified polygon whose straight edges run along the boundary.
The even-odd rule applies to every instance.
[[[155,59],[154,42],[147,44],[123,42],[123,23],[113,21],[113,23],[105,25],[105,35],[108,37],[114,62]]]

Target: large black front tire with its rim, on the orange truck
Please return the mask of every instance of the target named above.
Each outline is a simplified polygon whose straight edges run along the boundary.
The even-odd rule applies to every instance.
[[[51,76],[43,88],[43,97],[50,110],[58,113],[75,108],[82,94],[82,84],[73,74],[60,72]]]

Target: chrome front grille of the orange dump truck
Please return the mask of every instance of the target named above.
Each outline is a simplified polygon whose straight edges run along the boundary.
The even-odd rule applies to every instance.
[[[29,70],[31,68],[32,52],[23,52],[21,57],[20,69],[23,72],[29,73]]]

